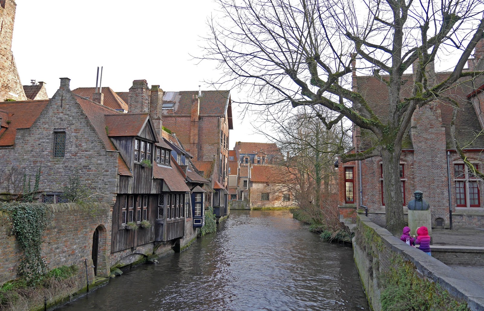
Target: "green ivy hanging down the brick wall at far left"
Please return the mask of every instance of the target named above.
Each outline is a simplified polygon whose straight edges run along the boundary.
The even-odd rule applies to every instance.
[[[10,214],[12,233],[23,250],[18,265],[19,276],[27,284],[34,285],[42,280],[47,264],[41,256],[42,237],[47,226],[47,209],[43,203],[3,202],[0,209]]]

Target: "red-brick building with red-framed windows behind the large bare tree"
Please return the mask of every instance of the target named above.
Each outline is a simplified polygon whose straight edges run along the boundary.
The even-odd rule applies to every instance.
[[[484,55],[483,41],[476,48],[476,56]],[[469,60],[469,70],[475,59]],[[434,72],[427,67],[427,74],[435,83],[449,77],[451,72]],[[385,77],[384,77],[385,78]],[[401,96],[410,96],[412,74],[404,75]],[[445,96],[459,104],[455,134],[469,161],[480,170],[483,168],[484,139],[479,136],[484,128],[483,95],[476,79],[461,79]],[[388,116],[386,100],[388,89],[374,76],[356,76],[353,71],[353,88],[361,93],[370,108],[385,120]],[[484,87],[483,87],[484,88]],[[481,199],[483,181],[468,173],[461,158],[455,152],[451,138],[453,107],[444,100],[435,100],[415,110],[411,124],[402,142],[400,180],[402,207],[407,214],[407,204],[415,190],[422,190],[424,199],[430,203],[432,226],[484,228],[484,202]],[[373,134],[355,127],[353,150],[363,151],[373,144]],[[356,208],[368,207],[368,216],[379,225],[385,225],[385,198],[380,157],[363,161],[339,163],[339,209],[340,217],[355,218]],[[450,179],[449,179],[450,176]],[[450,194],[450,195],[449,195]]]

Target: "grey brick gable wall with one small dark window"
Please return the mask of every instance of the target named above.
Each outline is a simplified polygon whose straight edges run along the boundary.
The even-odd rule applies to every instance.
[[[54,129],[65,129],[65,156],[54,157]],[[34,156],[33,156],[34,155]],[[59,89],[28,129],[17,130],[13,148],[0,149],[5,168],[32,179],[41,168],[39,191],[56,192],[78,169],[80,182],[100,202],[114,203],[119,183],[118,153],[106,147],[67,87]]]

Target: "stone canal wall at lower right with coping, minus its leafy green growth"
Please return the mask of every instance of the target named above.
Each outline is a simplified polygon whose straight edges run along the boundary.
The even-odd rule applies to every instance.
[[[363,289],[372,310],[382,310],[381,294],[385,289],[382,283],[387,273],[398,268],[396,258],[400,258],[401,264],[405,264],[406,268],[413,267],[408,272],[416,272],[423,282],[439,284],[440,288],[429,287],[435,291],[430,296],[439,296],[443,294],[442,291],[447,291],[455,301],[467,303],[470,310],[484,310],[484,293],[476,289],[466,277],[420,249],[408,246],[363,215],[358,215],[353,251]],[[412,295],[405,297],[411,298]]]

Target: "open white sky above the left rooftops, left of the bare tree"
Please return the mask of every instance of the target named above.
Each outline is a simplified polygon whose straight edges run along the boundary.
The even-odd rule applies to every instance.
[[[94,87],[97,66],[104,66],[102,85],[127,92],[133,80],[146,79],[164,91],[212,89],[203,80],[217,79],[216,63],[197,64],[198,47],[215,15],[211,0],[16,0],[14,52],[22,84],[46,82],[52,96],[59,78],[71,79],[71,90]],[[239,94],[232,90],[232,99]],[[242,122],[232,107],[236,141],[265,142],[254,134],[254,116]],[[256,126],[260,126],[257,124]]]

